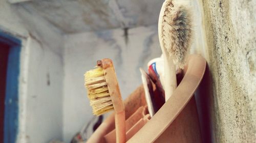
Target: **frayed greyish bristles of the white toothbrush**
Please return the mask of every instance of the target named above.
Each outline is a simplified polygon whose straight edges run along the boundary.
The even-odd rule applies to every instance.
[[[166,1],[165,3],[161,42],[169,58],[172,56],[174,64],[183,69],[193,37],[191,11],[189,6],[185,6],[182,2]]]

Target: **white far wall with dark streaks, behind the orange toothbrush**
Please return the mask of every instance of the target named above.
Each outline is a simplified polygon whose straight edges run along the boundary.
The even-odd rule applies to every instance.
[[[125,99],[140,85],[139,67],[146,70],[149,60],[160,56],[157,26],[132,28],[127,44],[121,29],[98,33],[65,36],[63,139],[69,142],[84,123],[93,117],[92,108],[84,89],[83,74],[102,58],[114,62],[122,97]]]

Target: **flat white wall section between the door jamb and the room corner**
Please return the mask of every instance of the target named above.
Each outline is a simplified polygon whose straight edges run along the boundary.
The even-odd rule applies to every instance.
[[[61,139],[63,78],[61,58],[33,39],[26,48],[29,50],[28,76],[23,81],[27,84],[26,142]]]

